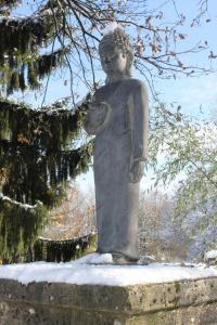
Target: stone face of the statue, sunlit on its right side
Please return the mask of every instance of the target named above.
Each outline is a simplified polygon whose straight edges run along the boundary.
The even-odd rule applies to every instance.
[[[127,55],[117,47],[107,47],[101,54],[102,68],[106,75],[124,74],[127,65]]]

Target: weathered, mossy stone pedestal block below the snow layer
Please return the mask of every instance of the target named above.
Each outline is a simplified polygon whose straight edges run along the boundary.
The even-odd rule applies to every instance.
[[[217,324],[217,277],[112,287],[0,280],[1,325]]]

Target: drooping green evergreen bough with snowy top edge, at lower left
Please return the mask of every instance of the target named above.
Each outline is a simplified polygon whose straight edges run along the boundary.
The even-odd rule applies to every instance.
[[[28,251],[46,222],[47,210],[41,203],[22,205],[0,196],[0,259],[14,261]]]

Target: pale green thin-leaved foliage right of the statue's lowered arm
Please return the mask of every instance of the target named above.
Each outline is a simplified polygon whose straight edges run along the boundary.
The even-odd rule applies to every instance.
[[[217,123],[197,121],[179,109],[156,107],[151,117],[150,161],[155,186],[168,185],[182,173],[177,186],[177,214],[207,202],[217,202]],[[158,164],[158,160],[162,164]]]

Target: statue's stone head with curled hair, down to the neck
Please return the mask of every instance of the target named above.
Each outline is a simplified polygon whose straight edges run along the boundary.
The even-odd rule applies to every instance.
[[[99,52],[102,68],[107,75],[106,82],[112,79],[129,78],[133,62],[132,47],[129,37],[117,27],[106,34],[100,41]]]

